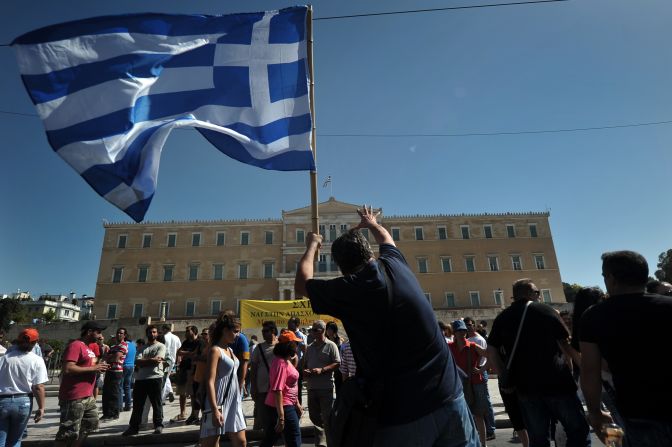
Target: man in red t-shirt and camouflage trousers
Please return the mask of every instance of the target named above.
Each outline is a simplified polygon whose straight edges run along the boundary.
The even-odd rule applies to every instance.
[[[105,329],[97,321],[82,326],[81,337],[73,340],[63,353],[63,377],[58,392],[61,423],[56,433],[56,446],[79,447],[86,435],[98,428],[98,410],[93,397],[96,374],[105,372],[107,363],[96,363],[96,354],[89,348]]]

